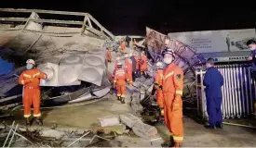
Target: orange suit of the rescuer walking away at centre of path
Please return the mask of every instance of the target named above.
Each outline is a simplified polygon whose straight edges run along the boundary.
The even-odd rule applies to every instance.
[[[126,70],[118,68],[115,71],[114,83],[117,89],[117,96],[126,97],[126,80],[128,79]]]

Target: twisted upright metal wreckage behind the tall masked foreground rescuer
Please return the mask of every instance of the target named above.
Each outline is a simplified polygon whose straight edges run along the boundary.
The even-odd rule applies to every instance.
[[[152,55],[161,55],[166,46],[172,49],[176,54],[174,63],[184,71],[184,93],[195,93],[195,66],[205,63],[202,55],[196,54],[196,50],[187,44],[175,39],[170,40],[167,35],[150,28],[146,28],[145,44]]]

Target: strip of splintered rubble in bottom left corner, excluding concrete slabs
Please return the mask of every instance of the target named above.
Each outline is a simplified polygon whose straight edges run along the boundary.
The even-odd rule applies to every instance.
[[[111,141],[118,133],[102,133],[99,130],[71,128],[14,127],[1,125],[2,146],[12,147],[81,147],[92,146],[101,141]]]

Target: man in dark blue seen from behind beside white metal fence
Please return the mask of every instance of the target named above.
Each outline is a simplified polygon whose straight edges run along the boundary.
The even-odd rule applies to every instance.
[[[223,77],[221,72],[214,68],[213,58],[207,61],[207,72],[204,78],[204,85],[206,86],[207,97],[207,112],[209,115],[208,129],[220,128],[222,129],[222,85]]]

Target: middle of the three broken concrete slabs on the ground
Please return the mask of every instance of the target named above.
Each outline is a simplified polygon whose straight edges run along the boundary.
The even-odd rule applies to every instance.
[[[143,123],[139,117],[135,117],[132,114],[124,114],[120,115],[121,122],[128,126],[128,128],[132,128],[137,123]]]

